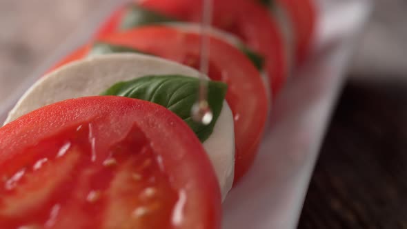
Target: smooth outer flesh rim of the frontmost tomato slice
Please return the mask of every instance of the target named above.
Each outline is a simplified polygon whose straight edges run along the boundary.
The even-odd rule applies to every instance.
[[[29,156],[25,155],[28,148],[35,148],[43,139],[52,139],[83,123],[92,123],[92,135],[98,142],[95,150],[106,155],[110,146],[122,141],[132,126],[138,126],[150,141],[150,148],[161,156],[172,187],[183,190],[188,197],[184,205],[185,220],[181,226],[168,227],[220,228],[220,190],[199,139],[170,110],[148,101],[83,97],[34,110],[0,128],[1,174],[21,168],[26,163],[21,159]]]

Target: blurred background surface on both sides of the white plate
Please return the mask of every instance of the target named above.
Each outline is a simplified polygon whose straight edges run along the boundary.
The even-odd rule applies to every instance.
[[[344,0],[338,0],[344,1]],[[0,0],[0,98],[97,0]],[[299,228],[407,228],[407,1],[377,0],[312,177]]]

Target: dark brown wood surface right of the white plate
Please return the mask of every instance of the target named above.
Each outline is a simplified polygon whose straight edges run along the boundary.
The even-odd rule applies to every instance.
[[[406,81],[346,85],[299,228],[407,228]]]

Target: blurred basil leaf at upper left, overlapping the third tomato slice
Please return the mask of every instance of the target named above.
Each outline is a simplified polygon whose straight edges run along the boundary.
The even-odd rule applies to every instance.
[[[127,12],[124,14],[119,26],[120,30],[128,30],[130,28],[144,26],[151,23],[177,21],[176,19],[164,16],[159,12],[137,6],[137,4],[130,4],[126,10]]]

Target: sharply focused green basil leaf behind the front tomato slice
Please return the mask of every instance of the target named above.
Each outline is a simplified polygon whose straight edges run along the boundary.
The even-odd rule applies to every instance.
[[[213,118],[205,126],[192,120],[191,109],[198,99],[199,79],[181,75],[146,76],[116,83],[102,95],[142,99],[168,108],[181,117],[201,142],[210,137],[219,117],[227,87],[225,83],[208,81],[208,104]]]

